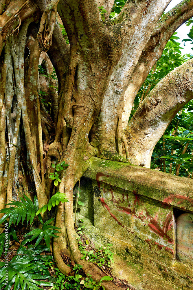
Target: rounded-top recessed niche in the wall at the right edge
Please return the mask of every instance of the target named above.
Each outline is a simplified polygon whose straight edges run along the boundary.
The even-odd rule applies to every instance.
[[[176,222],[176,258],[193,263],[193,213],[174,209]]]

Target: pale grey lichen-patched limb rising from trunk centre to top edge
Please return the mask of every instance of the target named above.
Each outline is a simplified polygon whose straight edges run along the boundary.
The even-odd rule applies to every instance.
[[[141,14],[145,3],[140,1],[140,3],[133,4],[133,7],[130,8],[125,21],[113,27],[115,36],[121,35],[117,37],[120,42],[118,43],[117,41],[115,45],[119,57],[117,57],[117,64],[113,68],[98,120],[100,124],[98,133],[101,136],[99,141],[106,139],[106,135],[108,135],[109,142],[105,142],[108,144],[107,147],[112,146],[113,143],[113,140],[110,141],[110,135],[114,138],[115,144],[118,119],[121,118],[124,93],[128,87],[130,76],[139,60],[141,51],[146,46],[157,21],[168,6],[169,1],[155,0],[148,3],[146,14]]]

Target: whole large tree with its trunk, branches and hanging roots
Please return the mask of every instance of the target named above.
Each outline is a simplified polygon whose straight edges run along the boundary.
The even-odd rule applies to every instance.
[[[129,0],[113,19],[108,17],[114,1],[7,2],[0,11],[1,208],[23,193],[36,195],[42,207],[56,191],[64,192],[69,202],[57,208],[56,226],[62,229],[53,241],[54,259],[71,275],[60,255],[65,253],[100,280],[104,273],[81,260],[78,250],[73,187],[91,156],[150,167],[155,144],[193,98],[193,60],[160,81],[128,123],[130,111],[168,39],[193,16],[193,1],[184,0],[161,20],[169,0]],[[107,11],[103,18],[98,6]],[[50,74],[51,63],[58,84],[38,72],[41,65]],[[50,82],[58,92],[49,90]],[[40,91],[49,95],[49,112]],[[56,189],[49,176],[52,164],[62,161],[69,166]],[[105,282],[104,288],[118,287]]]

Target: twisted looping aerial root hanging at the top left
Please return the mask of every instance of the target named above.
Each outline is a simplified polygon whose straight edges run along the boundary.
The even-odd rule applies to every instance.
[[[41,22],[40,22],[40,28],[37,34],[38,44],[41,51],[47,51],[49,47],[52,45],[52,34],[54,31],[54,25],[56,22],[57,5],[59,1],[60,0],[51,0],[47,8],[43,12]],[[48,20],[49,12],[50,12],[50,20]],[[47,29],[45,30],[44,41],[43,41],[42,33],[44,30],[45,24],[46,24]]]

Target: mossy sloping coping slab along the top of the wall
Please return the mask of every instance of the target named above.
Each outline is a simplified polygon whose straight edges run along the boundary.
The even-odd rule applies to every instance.
[[[193,212],[192,179],[98,157],[91,157],[89,162],[90,166],[84,176],[96,180],[99,187],[104,182],[157,200],[163,206]]]

